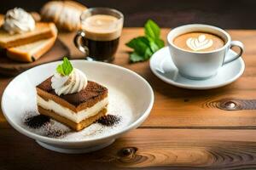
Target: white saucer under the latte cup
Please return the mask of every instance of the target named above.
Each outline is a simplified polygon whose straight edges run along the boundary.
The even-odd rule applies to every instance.
[[[227,57],[236,54],[230,49]],[[161,48],[150,59],[150,69],[162,81],[188,89],[211,89],[223,87],[241,77],[245,69],[244,61],[239,58],[222,66],[218,74],[205,80],[191,80],[178,74],[177,67],[173,64],[168,47]]]

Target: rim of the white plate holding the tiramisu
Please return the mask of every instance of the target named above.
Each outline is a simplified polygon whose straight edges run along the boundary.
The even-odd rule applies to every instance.
[[[49,137],[44,137],[44,136],[41,136],[37,133],[32,133],[30,132],[29,130],[26,130],[25,128],[23,127],[20,127],[19,125],[17,125],[15,122],[13,122],[12,120],[9,119],[9,116],[8,116],[8,113],[7,111],[5,111],[5,108],[3,106],[3,103],[4,103],[4,100],[5,100],[5,96],[7,94],[6,93],[6,90],[4,90],[3,92],[3,97],[2,97],[2,111],[3,111],[3,116],[5,116],[5,118],[7,119],[7,121],[11,124],[12,127],[14,127],[18,132],[26,135],[27,137],[30,137],[32,139],[37,139],[39,141],[44,141],[46,143],[50,143],[50,144],[81,144],[81,143],[84,143],[84,142],[91,142],[91,141],[100,141],[100,140],[104,140],[104,139],[114,139],[115,137],[119,136],[120,134],[122,133],[125,133],[131,129],[134,129],[136,127],[138,127],[142,122],[144,122],[144,120],[148,117],[152,107],[153,107],[153,104],[154,104],[154,92],[153,92],[153,89],[151,88],[151,86],[149,85],[149,83],[143,78],[141,77],[140,75],[138,75],[136,72],[134,71],[131,71],[129,69],[126,69],[124,67],[121,67],[119,65],[113,65],[113,64],[108,64],[108,63],[103,63],[103,62],[97,62],[97,61],[86,61],[86,60],[79,60],[79,59],[71,59],[72,62],[90,62],[90,63],[96,63],[96,65],[108,65],[110,67],[115,67],[117,69],[119,69],[120,71],[127,71],[129,73],[131,73],[132,75],[134,75],[135,77],[139,78],[140,80],[142,80],[146,87],[148,87],[149,91],[150,91],[150,103],[148,105],[148,109],[143,113],[142,116],[140,116],[137,120],[135,120],[134,122],[132,122],[131,124],[129,124],[128,126],[124,127],[122,130],[116,132],[116,133],[112,133],[108,136],[104,136],[104,137],[97,137],[95,139],[81,139],[81,140],[71,140],[71,141],[66,141],[66,140],[62,140],[62,139],[52,139],[52,138],[49,138]],[[44,67],[46,65],[49,65],[49,64],[53,64],[53,63],[60,63],[61,61],[55,61],[55,62],[51,62],[51,63],[48,63],[48,64],[44,64],[44,65],[38,65],[36,67],[33,67],[27,71],[31,71],[32,69],[35,69],[35,68],[38,68],[38,67]],[[20,75],[18,75],[17,77],[21,76],[21,75],[24,75],[26,74],[27,71],[24,71],[22,72]],[[15,77],[16,78],[16,77]],[[12,83],[15,78],[9,82]],[[7,88],[9,88],[9,85],[7,86]]]

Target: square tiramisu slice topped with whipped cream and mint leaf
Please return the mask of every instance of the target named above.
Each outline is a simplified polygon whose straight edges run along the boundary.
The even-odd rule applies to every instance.
[[[55,74],[37,86],[38,111],[76,131],[107,113],[108,88],[87,81],[67,58]]]

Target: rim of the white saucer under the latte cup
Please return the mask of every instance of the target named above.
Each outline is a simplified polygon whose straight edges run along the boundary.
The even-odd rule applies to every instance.
[[[168,47],[161,48],[160,50],[168,50],[168,49],[166,49],[166,48],[168,48]],[[223,86],[225,86],[225,85],[230,84],[231,82],[236,81],[237,78],[241,77],[241,75],[242,75],[242,73],[243,73],[243,71],[244,71],[244,69],[245,69],[244,61],[243,61],[243,59],[240,57],[239,59],[240,59],[240,61],[241,61],[241,70],[240,70],[239,73],[236,75],[236,77],[233,77],[233,78],[231,78],[229,81],[226,81],[226,82],[224,82],[224,83],[220,83],[220,84],[218,84],[218,85],[206,85],[206,86],[203,86],[203,87],[198,87],[198,86],[196,86],[196,85],[189,85],[189,84],[183,84],[183,83],[179,83],[179,82],[174,82],[174,81],[172,81],[172,79],[168,79],[168,78],[166,78],[166,77],[161,76],[161,75],[155,70],[155,68],[154,68],[154,63],[153,63],[153,62],[154,62],[154,56],[157,56],[158,53],[160,53],[160,50],[157,51],[155,54],[153,54],[153,56],[151,57],[151,59],[150,59],[150,61],[149,61],[150,69],[151,69],[151,71],[154,73],[154,75],[155,75],[156,77],[159,77],[159,78],[160,78],[160,80],[162,80],[162,81],[164,81],[164,82],[167,82],[167,83],[169,83],[169,84],[172,84],[172,85],[174,85],[174,86],[177,86],[177,87],[179,87],[179,88],[196,89],[196,90],[207,90],[207,89],[212,89],[212,88],[220,88],[220,87],[223,87]],[[172,59],[171,56],[169,56],[169,57],[170,57],[170,59]]]

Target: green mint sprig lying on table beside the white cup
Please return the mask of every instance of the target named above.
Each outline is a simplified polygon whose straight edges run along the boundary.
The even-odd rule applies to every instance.
[[[146,22],[144,32],[145,36],[135,37],[125,44],[134,49],[130,54],[130,61],[133,63],[148,60],[157,50],[165,46],[165,42],[160,39],[160,27],[153,20]]]

